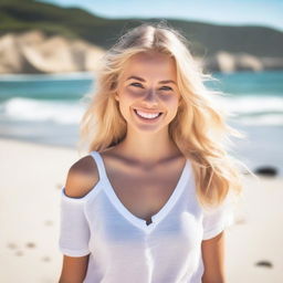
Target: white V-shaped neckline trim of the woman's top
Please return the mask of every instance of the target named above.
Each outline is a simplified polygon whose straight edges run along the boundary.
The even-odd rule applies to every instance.
[[[125,206],[124,203],[119,200],[118,196],[116,195],[105,169],[105,164],[103,160],[102,155],[98,151],[92,151],[91,153],[93,157],[95,158],[98,167],[98,174],[101,181],[105,181],[105,192],[108,197],[108,199],[112,201],[112,203],[116,207],[118,212],[120,212],[125,219],[130,221],[134,226],[138,227],[146,233],[149,233],[154,230],[154,228],[168,214],[168,212],[172,209],[174,205],[177,202],[179,199],[179,196],[181,195],[187,180],[189,179],[191,168],[190,168],[190,163],[189,159],[186,160],[185,166],[181,170],[181,175],[178,179],[177,186],[175,187],[172,193],[170,195],[169,199],[167,202],[163,206],[163,208],[151,216],[151,222],[147,224],[147,221],[136,217]]]

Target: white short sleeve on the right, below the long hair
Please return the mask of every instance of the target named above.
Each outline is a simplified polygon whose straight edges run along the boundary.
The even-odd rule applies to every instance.
[[[234,206],[230,198],[217,208],[205,210],[202,240],[211,239],[234,223]]]

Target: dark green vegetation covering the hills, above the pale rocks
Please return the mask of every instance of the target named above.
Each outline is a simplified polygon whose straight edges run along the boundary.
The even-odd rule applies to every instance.
[[[82,9],[65,9],[33,0],[0,0],[0,35],[7,32],[41,30],[48,35],[84,39],[109,48],[127,29],[161,19],[112,20]],[[228,27],[167,19],[191,42],[195,55],[211,55],[224,50],[256,56],[283,56],[283,33],[264,27]],[[206,46],[206,48],[205,48]]]

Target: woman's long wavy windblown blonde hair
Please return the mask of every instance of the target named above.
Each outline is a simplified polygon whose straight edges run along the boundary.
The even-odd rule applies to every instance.
[[[175,59],[181,94],[177,115],[168,126],[169,136],[191,160],[199,202],[203,207],[218,206],[229,192],[238,196],[242,192],[241,172],[237,167],[240,161],[228,155],[224,143],[232,145],[229,134],[244,135],[226,124],[227,113],[214,99],[222,93],[203,84],[216,78],[201,71],[188,46],[181,32],[164,21],[143,23],[120,36],[101,60],[95,93],[86,97],[91,101],[80,124],[78,144],[85,143],[88,151],[102,151],[122,142],[127,124],[114,95],[125,62],[134,54],[151,50],[169,54]]]

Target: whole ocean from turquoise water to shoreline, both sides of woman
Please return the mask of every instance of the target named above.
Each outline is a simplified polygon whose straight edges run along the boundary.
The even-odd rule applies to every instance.
[[[231,138],[231,153],[251,169],[275,167],[283,175],[283,71],[213,73],[208,87],[232,113],[228,124],[245,134]],[[0,75],[0,137],[75,148],[91,94],[92,73]]]

